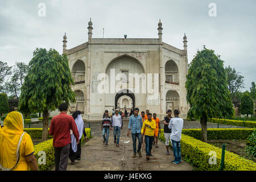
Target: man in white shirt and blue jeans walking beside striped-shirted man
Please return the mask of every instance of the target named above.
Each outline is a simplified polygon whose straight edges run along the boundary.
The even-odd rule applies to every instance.
[[[118,109],[115,109],[115,115],[112,117],[112,127],[114,127],[114,143],[119,147],[120,132],[123,129],[123,119],[118,114]]]

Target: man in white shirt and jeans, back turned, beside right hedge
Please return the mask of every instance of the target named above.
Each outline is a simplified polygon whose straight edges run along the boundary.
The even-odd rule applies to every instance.
[[[172,129],[171,142],[172,142],[172,149],[174,150],[174,157],[175,157],[172,163],[179,164],[181,163],[180,140],[181,140],[181,132],[183,129],[183,119],[179,118],[179,110],[177,109],[174,110],[174,118],[171,118],[168,128]]]

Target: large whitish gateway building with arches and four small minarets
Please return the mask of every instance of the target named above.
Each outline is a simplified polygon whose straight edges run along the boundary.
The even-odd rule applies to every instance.
[[[67,36],[63,37],[63,53],[69,59],[75,81],[72,89],[76,93],[76,103],[69,107],[69,114],[80,110],[84,119],[93,121],[102,119],[106,109],[111,113],[115,108],[130,111],[139,107],[139,113],[148,109],[160,119],[166,115],[167,109],[179,109],[180,117],[187,117],[185,35],[184,49],[179,49],[162,42],[160,20],[158,38],[155,39],[92,38],[91,20],[88,25],[86,43],[67,49]],[[149,79],[150,73],[152,80]],[[104,93],[98,89],[102,83],[98,78],[102,74],[108,78],[103,87],[108,92]],[[118,84],[121,84],[119,89]]]

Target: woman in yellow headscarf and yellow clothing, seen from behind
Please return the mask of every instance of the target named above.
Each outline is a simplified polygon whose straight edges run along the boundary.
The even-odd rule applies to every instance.
[[[0,129],[0,170],[38,171],[34,156],[34,145],[30,135],[23,131],[21,113],[13,111],[3,121]]]

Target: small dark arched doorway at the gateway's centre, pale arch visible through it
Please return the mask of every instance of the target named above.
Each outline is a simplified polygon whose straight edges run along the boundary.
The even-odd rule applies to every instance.
[[[135,96],[129,90],[121,90],[115,95],[115,109],[130,111],[135,108]]]

